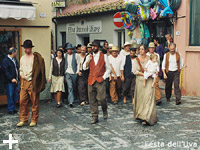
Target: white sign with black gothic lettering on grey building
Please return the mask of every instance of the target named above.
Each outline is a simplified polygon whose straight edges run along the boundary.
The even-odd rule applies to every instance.
[[[86,34],[86,33],[101,33],[101,32],[102,32],[101,21],[67,24],[68,34]]]

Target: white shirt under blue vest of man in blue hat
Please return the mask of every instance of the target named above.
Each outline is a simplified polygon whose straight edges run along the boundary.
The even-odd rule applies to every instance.
[[[68,63],[68,67],[67,67],[67,70],[65,71],[66,73],[69,73],[69,74],[76,74],[79,72],[79,69],[80,69],[80,64],[79,64],[79,54],[75,54],[75,58],[76,58],[76,64],[77,64],[77,71],[74,72],[73,69],[72,69],[72,58],[73,58],[73,54],[72,55],[67,55],[67,63]],[[66,59],[66,55],[65,55],[65,59]]]

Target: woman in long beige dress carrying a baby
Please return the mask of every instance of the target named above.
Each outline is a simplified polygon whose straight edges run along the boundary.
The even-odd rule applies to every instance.
[[[150,57],[146,55],[147,47],[139,47],[140,56],[134,60],[133,73],[136,75],[134,96],[134,120],[142,120],[142,124],[154,125],[157,122],[155,87],[152,88],[153,78],[149,78],[144,87],[144,67]]]

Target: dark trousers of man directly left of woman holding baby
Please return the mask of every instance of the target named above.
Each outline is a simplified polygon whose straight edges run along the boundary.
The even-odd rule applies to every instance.
[[[131,98],[134,97],[135,80],[136,80],[136,76],[133,74],[130,77],[127,77],[124,79],[124,82],[122,82],[122,94],[124,96],[129,95]]]

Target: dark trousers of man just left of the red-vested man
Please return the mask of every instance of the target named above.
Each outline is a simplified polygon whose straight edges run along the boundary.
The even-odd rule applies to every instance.
[[[88,100],[88,79],[78,76],[78,92],[81,102]]]

